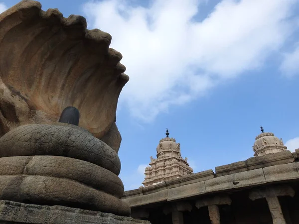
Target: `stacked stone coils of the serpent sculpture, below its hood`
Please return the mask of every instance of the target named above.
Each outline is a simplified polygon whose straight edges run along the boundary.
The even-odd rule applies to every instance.
[[[27,124],[0,138],[0,200],[129,216],[120,169],[111,147],[73,124]]]

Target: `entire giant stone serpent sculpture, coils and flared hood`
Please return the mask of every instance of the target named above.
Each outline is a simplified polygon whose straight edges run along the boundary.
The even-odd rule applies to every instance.
[[[86,27],[33,0],[0,14],[0,200],[129,216],[115,124],[129,77],[111,36]],[[70,106],[80,120],[57,123]]]

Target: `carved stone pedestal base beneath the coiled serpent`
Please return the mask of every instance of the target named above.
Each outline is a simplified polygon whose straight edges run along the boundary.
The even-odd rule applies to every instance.
[[[150,224],[148,221],[63,206],[0,201],[0,224]]]

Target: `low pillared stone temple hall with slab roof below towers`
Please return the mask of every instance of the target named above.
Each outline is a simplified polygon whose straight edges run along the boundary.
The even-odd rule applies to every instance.
[[[133,218],[151,224],[298,224],[298,154],[249,158],[127,191],[122,199]]]

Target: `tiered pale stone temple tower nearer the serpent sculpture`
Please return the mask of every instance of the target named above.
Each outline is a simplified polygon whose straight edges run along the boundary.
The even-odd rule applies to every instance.
[[[182,177],[193,173],[187,158],[182,158],[180,144],[174,138],[169,138],[168,129],[166,137],[162,138],[157,146],[157,158],[150,157],[150,167],[146,168],[145,187],[156,185],[163,181]]]

